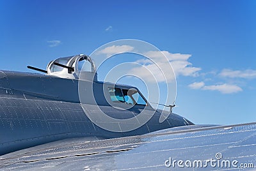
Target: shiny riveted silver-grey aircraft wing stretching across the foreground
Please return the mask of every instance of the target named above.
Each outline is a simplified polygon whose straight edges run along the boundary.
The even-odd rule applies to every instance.
[[[0,170],[255,170],[256,123],[184,126],[134,137],[73,140],[0,158]]]

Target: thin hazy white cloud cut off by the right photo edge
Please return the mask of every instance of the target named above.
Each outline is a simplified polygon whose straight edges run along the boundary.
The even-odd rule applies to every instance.
[[[221,77],[230,78],[256,78],[256,70],[228,70],[224,69],[220,73]]]

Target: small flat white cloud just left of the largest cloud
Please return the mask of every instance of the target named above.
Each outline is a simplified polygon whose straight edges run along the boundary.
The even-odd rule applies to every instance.
[[[98,52],[98,54],[107,54],[111,56],[113,54],[123,53],[123,52],[131,52],[134,47],[129,45],[113,45],[111,47],[106,47]]]

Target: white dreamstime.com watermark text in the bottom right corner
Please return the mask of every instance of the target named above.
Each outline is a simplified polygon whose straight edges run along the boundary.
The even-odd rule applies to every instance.
[[[222,154],[216,153],[216,159],[210,160],[173,160],[171,157],[164,161],[165,167],[172,168],[253,168],[253,163],[239,163],[237,160],[222,160]]]

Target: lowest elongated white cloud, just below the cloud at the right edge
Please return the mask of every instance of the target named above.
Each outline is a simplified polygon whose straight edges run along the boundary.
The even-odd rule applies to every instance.
[[[232,84],[220,84],[220,85],[205,85],[204,82],[194,82],[188,85],[191,89],[202,89],[211,91],[220,91],[223,94],[238,93],[243,91],[241,87]]]

